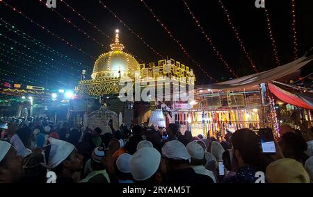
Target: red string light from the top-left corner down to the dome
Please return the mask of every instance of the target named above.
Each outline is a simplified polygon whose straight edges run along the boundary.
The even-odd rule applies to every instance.
[[[11,8],[13,11],[19,13],[19,15],[22,15],[24,18],[28,19],[30,22],[32,22],[33,24],[35,24],[36,26],[40,27],[40,29],[42,29],[43,31],[46,31],[47,33],[49,33],[50,35],[53,35],[54,37],[58,38],[58,40],[61,40],[62,42],[65,42],[65,44],[67,44],[68,46],[71,46],[74,49],[77,49],[78,51],[80,51],[81,53],[88,55],[90,58],[93,58],[95,60],[95,57],[93,55],[90,55],[89,53],[86,53],[85,51],[83,51],[82,49],[80,49],[79,47],[75,46],[74,44],[72,44],[71,42],[68,42],[67,40],[65,40],[64,38],[56,35],[55,33],[49,31],[49,29],[45,28],[45,26],[42,26],[40,24],[38,24],[37,22],[33,21],[33,19],[31,19],[30,17],[27,17],[26,15],[23,14],[23,12],[17,10],[16,8],[13,8],[13,6],[10,6],[10,4],[6,3],[5,1],[0,1],[1,3],[4,3],[6,6],[8,6],[9,8]]]

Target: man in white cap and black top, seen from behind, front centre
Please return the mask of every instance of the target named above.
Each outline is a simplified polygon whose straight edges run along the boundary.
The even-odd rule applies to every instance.
[[[168,175],[166,182],[179,184],[214,183],[208,175],[195,173],[191,168],[191,155],[178,140],[166,142],[162,148],[162,171]]]

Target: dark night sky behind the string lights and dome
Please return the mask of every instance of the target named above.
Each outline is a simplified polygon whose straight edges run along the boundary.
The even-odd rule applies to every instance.
[[[95,58],[108,52],[109,44],[112,43],[102,33],[114,37],[114,30],[119,28],[122,44],[125,45],[129,53],[135,55],[138,62],[157,62],[161,59],[128,28],[125,28],[98,0],[65,0],[65,2],[97,26],[102,33],[99,33],[96,28],[79,17],[61,0],[56,0],[57,8],[55,10],[69,19],[81,31],[86,32],[86,35],[39,0],[2,1]],[[211,83],[211,80],[195,66],[153,18],[141,0],[102,1],[163,57],[173,58],[193,68],[198,84]],[[225,12],[220,7],[218,0],[186,0],[186,2],[204,31],[211,37],[216,49],[220,51],[236,75],[244,76],[254,73],[250,62],[241,51],[239,42],[227,22]],[[146,0],[145,3],[152,8],[155,15],[184,46],[195,62],[198,62],[212,77],[219,81],[234,77],[216,56],[200,28],[189,15],[182,0]],[[277,67],[268,35],[264,9],[255,8],[255,0],[223,0],[223,3],[257,69],[265,71]],[[267,0],[266,8],[271,19],[278,58],[282,64],[291,62],[294,60],[291,0]],[[0,78],[2,82],[39,85],[53,89],[73,88],[77,85],[82,69],[86,69],[88,76],[90,76],[95,62],[90,56],[47,33],[40,26],[36,26],[3,2],[0,2],[0,17]],[[14,33],[14,28],[6,22],[15,26],[20,35]],[[312,25],[312,1],[296,0],[299,57],[313,46]],[[29,40],[26,40],[21,36],[21,31],[32,38],[27,37]],[[88,38],[88,35],[93,38]],[[45,44],[46,48],[42,49],[38,44],[34,44],[30,41],[32,39],[35,39],[35,42],[39,41]],[[104,44],[105,47],[101,44]],[[46,50],[47,47],[55,51],[48,51]],[[65,60],[56,53],[67,55],[70,60]]]

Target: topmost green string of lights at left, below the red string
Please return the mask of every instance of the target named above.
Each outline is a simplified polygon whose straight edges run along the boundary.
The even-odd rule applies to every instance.
[[[46,51],[49,51],[50,53],[54,53],[55,55],[58,55],[58,57],[61,57],[63,58],[63,60],[67,60],[71,62],[73,65],[79,65],[79,67],[81,68],[86,68],[86,66],[84,66],[81,62],[77,62],[77,60],[74,60],[73,58],[70,58],[67,55],[63,55],[63,53],[60,53],[56,51],[55,49],[52,49],[50,46],[47,46],[46,44],[43,44],[42,42],[35,40],[35,38],[19,30],[17,27],[13,26],[12,24],[9,24],[8,22],[4,21],[2,18],[0,18],[0,21],[5,23],[3,25],[0,24],[0,26],[6,27],[9,31],[13,31],[17,35],[22,36],[25,40],[33,42],[35,45],[39,46],[42,49],[45,49]]]

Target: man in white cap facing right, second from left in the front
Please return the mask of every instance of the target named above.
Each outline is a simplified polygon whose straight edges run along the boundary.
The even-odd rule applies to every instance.
[[[57,183],[74,183],[72,176],[83,169],[83,156],[79,155],[74,145],[52,137],[51,145],[45,148],[47,168],[57,175]]]

